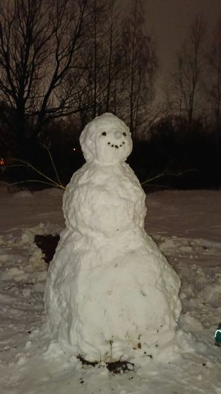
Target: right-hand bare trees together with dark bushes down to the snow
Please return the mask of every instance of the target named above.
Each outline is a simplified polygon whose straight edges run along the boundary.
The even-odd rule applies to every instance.
[[[164,93],[160,119],[150,128],[148,166],[185,173],[170,178],[167,185],[220,186],[221,18],[212,29],[201,15],[193,19]]]

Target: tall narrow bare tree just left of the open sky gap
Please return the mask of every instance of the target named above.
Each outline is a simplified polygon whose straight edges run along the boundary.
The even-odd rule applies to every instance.
[[[135,136],[145,120],[148,101],[153,99],[153,81],[157,57],[152,38],[143,33],[143,0],[133,0],[124,21],[122,52],[124,53],[124,93],[128,97],[129,123]]]

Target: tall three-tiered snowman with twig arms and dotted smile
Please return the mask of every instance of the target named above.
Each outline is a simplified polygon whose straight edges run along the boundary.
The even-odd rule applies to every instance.
[[[52,340],[88,361],[155,354],[172,343],[180,281],[145,233],[145,193],[125,162],[131,133],[105,113],[80,135],[86,163],[66,187],[45,291]]]

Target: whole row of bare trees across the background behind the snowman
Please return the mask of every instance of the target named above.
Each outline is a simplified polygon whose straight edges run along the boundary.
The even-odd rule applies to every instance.
[[[89,120],[113,112],[134,141],[174,146],[170,161],[206,135],[220,168],[221,19],[213,31],[193,19],[157,103],[159,60],[144,16],[143,0],[1,0],[0,154],[73,144]]]

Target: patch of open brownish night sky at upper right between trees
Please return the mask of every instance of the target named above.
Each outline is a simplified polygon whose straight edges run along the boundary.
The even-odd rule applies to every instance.
[[[173,69],[175,53],[188,36],[193,18],[202,14],[210,31],[221,18],[221,0],[145,0],[145,11],[147,32],[157,43],[162,81],[162,74]]]

